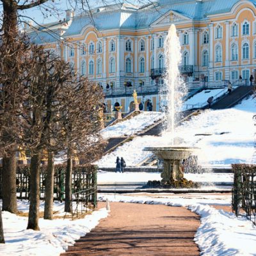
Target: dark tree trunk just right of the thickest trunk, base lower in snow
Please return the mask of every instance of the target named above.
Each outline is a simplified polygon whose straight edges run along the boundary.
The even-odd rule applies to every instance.
[[[40,153],[31,157],[30,164],[30,204],[27,229],[40,230],[38,226],[40,204]]]

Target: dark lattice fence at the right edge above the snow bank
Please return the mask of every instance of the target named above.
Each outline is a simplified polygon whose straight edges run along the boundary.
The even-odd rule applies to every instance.
[[[232,189],[232,210],[246,214],[256,225],[256,165],[232,164],[234,186]]]

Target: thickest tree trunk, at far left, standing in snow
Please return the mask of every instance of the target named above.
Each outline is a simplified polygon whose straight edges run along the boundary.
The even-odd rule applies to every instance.
[[[3,211],[17,213],[17,188],[16,188],[16,157],[15,150],[10,156],[3,157],[2,176]]]

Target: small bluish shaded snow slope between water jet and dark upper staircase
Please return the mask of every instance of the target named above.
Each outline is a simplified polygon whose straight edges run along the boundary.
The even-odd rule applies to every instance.
[[[196,93],[193,97],[190,99],[186,100],[182,104],[182,110],[190,109],[190,108],[201,108],[202,106],[207,105],[207,99],[209,97],[213,96],[220,97],[223,95],[223,93],[227,92],[227,88],[221,88],[221,89],[205,89],[202,92]]]

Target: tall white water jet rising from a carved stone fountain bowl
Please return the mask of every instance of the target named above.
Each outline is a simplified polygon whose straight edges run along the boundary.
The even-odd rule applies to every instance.
[[[168,36],[164,43],[164,49],[166,63],[164,81],[166,87],[163,90],[166,92],[165,97],[166,102],[168,102],[168,105],[166,106],[166,131],[172,134],[172,141],[170,147],[147,147],[144,148],[144,150],[152,151],[159,159],[163,159],[164,170],[161,173],[162,186],[179,187],[183,182],[183,187],[192,187],[194,185],[193,182],[184,179],[184,166],[182,161],[188,159],[195,148],[174,145],[175,111],[181,106],[182,94],[184,95],[184,90],[180,90],[183,83],[179,73],[181,60],[180,42],[174,24],[170,26]]]

